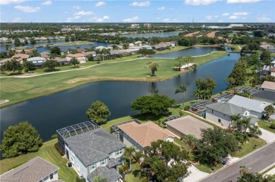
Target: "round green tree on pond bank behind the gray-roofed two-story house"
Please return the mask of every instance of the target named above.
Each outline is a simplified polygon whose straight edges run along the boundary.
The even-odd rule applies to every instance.
[[[102,101],[95,101],[86,112],[87,117],[97,124],[107,122],[107,117],[111,115],[109,108]]]

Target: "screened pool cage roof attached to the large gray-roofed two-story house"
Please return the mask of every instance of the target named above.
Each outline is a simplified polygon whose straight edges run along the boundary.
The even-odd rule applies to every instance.
[[[100,126],[98,126],[95,122],[87,121],[72,126],[67,126],[63,129],[58,129],[56,132],[63,138],[69,138],[71,136],[83,134],[87,131],[92,131],[93,129],[99,128]]]

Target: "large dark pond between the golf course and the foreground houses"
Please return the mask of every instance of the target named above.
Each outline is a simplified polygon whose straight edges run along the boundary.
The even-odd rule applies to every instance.
[[[96,100],[102,100],[109,107],[109,119],[135,115],[136,112],[131,110],[130,103],[140,96],[150,95],[152,91],[181,103],[183,96],[181,93],[175,94],[175,90],[184,83],[187,86],[185,100],[193,100],[195,80],[199,77],[212,77],[216,81],[214,93],[219,93],[227,88],[224,80],[231,73],[239,57],[239,53],[231,53],[197,67],[196,71],[163,82],[96,82],[11,105],[0,110],[1,135],[8,126],[28,121],[35,126],[42,139],[47,141],[56,133],[56,129],[87,121],[85,112]]]

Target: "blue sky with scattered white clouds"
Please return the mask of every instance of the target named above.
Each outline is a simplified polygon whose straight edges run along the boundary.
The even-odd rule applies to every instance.
[[[275,22],[275,0],[0,0],[0,22]]]

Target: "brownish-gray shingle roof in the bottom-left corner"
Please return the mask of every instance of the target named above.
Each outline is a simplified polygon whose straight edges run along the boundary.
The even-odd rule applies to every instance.
[[[58,170],[54,164],[43,160],[41,157],[26,162],[25,164],[6,172],[0,177],[1,179],[18,179],[20,182],[40,181],[44,177]]]

